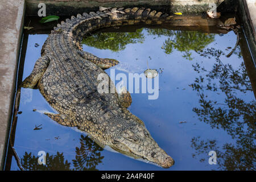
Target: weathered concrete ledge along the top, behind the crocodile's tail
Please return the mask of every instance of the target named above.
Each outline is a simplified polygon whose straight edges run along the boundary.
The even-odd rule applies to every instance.
[[[96,11],[99,6],[105,7],[149,7],[154,10],[161,10],[164,13],[182,12],[183,14],[199,14],[209,10],[210,3],[220,5],[222,2],[233,0],[26,0],[26,14],[36,16],[38,14],[38,4],[46,3],[47,15],[75,15],[88,11]],[[231,6],[232,5],[232,6]],[[232,10],[234,3],[230,3]]]

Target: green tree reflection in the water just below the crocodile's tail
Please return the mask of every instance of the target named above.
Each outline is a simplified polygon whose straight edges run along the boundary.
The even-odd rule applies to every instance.
[[[148,35],[168,36],[163,43],[162,49],[170,54],[176,49],[183,52],[183,57],[192,60],[191,51],[200,51],[214,41],[213,34],[206,34],[196,31],[175,31],[164,28],[144,28]],[[143,43],[143,28],[135,32],[99,32],[82,40],[82,44],[98,49],[109,49],[117,52],[126,48],[127,44]]]

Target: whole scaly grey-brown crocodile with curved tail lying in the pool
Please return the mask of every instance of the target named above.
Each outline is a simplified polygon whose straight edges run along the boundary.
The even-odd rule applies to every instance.
[[[174,159],[158,146],[143,121],[127,109],[131,104],[129,92],[97,92],[102,81],[98,75],[119,61],[83,51],[81,40],[100,28],[161,24],[171,18],[172,15],[138,7],[100,7],[97,12],[71,16],[53,28],[43,44],[41,57],[21,86],[38,88],[58,112],[44,114],[60,125],[85,131],[100,146],[169,168]]]

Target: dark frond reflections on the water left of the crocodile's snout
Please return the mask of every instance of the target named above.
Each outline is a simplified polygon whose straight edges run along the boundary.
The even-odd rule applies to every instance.
[[[98,146],[92,139],[81,135],[80,148],[76,147],[76,157],[71,163],[65,160],[63,153],[57,152],[56,155],[46,154],[46,164],[38,164],[39,156],[32,155],[31,152],[20,160],[22,167],[26,171],[69,171],[69,170],[98,170],[96,166],[102,162],[104,156],[101,156],[103,148]]]

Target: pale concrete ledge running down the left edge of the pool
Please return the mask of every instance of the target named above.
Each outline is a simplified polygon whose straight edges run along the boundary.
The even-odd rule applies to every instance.
[[[20,36],[23,28],[24,0],[1,0],[0,2],[0,169],[13,109],[16,70],[18,65]]]

